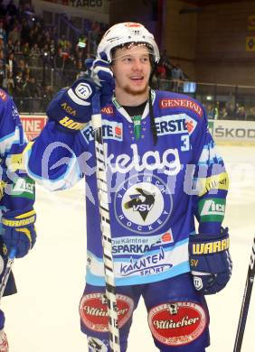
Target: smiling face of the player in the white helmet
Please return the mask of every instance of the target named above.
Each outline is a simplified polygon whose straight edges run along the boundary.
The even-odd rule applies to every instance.
[[[133,44],[117,49],[112,70],[116,81],[116,96],[146,96],[151,73],[149,52],[145,45]]]

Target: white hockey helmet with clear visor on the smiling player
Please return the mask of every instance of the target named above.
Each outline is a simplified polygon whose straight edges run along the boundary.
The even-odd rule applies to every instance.
[[[152,54],[155,63],[160,59],[158,47],[156,45],[154,35],[146,30],[146,27],[140,23],[126,22],[118,23],[109,28],[99,42],[98,55],[105,52],[109,62],[111,62],[111,51],[119,45],[128,42],[142,42],[152,48]]]

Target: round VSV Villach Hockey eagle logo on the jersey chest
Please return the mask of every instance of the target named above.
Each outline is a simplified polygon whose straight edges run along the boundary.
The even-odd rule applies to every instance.
[[[150,234],[163,227],[172,206],[165,182],[152,174],[128,178],[119,186],[114,201],[118,223],[139,234]]]

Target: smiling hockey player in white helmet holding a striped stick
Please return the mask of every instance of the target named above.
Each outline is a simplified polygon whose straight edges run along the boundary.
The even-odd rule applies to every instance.
[[[150,88],[159,60],[140,23],[105,33],[90,79],[62,89],[42,134],[24,151],[29,175],[50,190],[83,176],[87,190],[87,275],[80,301],[89,350],[109,351],[92,97],[100,91],[121,352],[143,296],[161,352],[203,352],[209,342],[205,294],[231,277],[228,229],[222,228],[228,175],[194,98]],[[195,218],[197,227],[195,227]]]

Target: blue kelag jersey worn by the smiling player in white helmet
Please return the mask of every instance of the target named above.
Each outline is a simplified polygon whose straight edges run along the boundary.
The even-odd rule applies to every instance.
[[[148,104],[138,140],[132,118],[115,98],[102,109],[117,285],[189,272],[189,236],[196,230],[219,234],[224,217],[228,176],[202,105],[171,92],[151,94],[156,145]],[[90,123],[77,134],[66,134],[49,121],[25,150],[24,164],[28,174],[50,190],[70,188],[85,176],[86,280],[104,285],[94,149]]]

